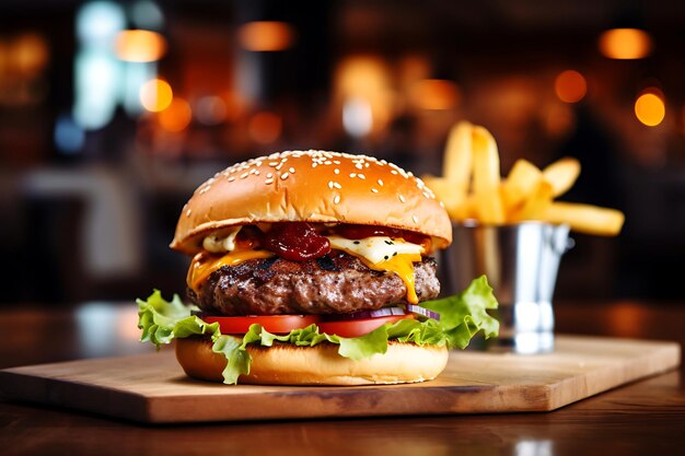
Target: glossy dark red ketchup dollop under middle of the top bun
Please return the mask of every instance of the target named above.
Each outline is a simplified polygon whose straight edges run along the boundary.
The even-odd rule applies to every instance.
[[[304,222],[275,223],[262,239],[264,248],[291,261],[306,261],[330,252],[330,243]]]

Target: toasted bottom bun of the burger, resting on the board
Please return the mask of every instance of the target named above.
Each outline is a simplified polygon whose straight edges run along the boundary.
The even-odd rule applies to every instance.
[[[222,382],[227,360],[211,351],[206,338],[176,339],[176,359],[194,378]],[[247,346],[249,375],[239,383],[255,385],[374,385],[436,378],[448,364],[445,347],[390,342],[384,354],[353,361],[338,354],[338,346]]]

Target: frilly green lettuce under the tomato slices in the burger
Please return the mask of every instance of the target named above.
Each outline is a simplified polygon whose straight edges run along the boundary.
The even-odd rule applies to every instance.
[[[227,384],[236,384],[240,375],[249,374],[249,344],[271,347],[278,341],[314,347],[328,342],[339,346],[340,356],[361,360],[385,353],[388,340],[463,349],[476,332],[483,331],[486,338],[490,338],[496,337],[499,330],[499,323],[487,313],[487,309],[497,308],[497,300],[485,276],[475,279],[461,294],[421,303],[423,307],[440,314],[440,320],[403,319],[355,338],[322,334],[316,325],[293,329],[288,335],[274,335],[255,324],[241,341],[236,337],[221,335],[218,323],[208,324],[193,315],[193,307],[185,306],[177,295],[166,301],[159,290],[154,290],[150,297],[137,300],[137,303],[141,341],[152,342],[159,349],[162,343],[170,343],[174,338],[210,337],[213,341],[212,351],[227,359],[223,371],[223,382]]]

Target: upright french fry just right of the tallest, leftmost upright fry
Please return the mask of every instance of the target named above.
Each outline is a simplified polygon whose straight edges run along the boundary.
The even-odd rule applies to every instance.
[[[500,196],[499,154],[495,138],[483,127],[474,127],[472,135],[473,191],[478,220],[484,224],[504,223]]]

